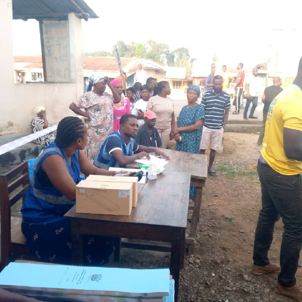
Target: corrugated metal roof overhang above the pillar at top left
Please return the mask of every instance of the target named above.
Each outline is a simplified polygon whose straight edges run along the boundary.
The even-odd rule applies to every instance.
[[[68,13],[99,18],[84,0],[13,0],[14,19],[64,19]]]

